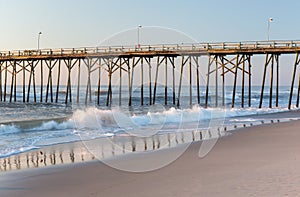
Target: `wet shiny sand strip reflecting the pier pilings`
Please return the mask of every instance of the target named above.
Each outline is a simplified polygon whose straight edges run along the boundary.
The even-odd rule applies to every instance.
[[[245,116],[245,118],[252,117],[255,117],[256,119],[261,118],[263,121],[256,121],[255,124],[251,122],[246,124],[237,122],[230,126],[224,125],[223,127],[213,128],[214,130],[205,131],[196,129],[192,132],[188,131],[184,133],[158,135],[157,138],[155,136],[151,138],[136,138],[134,142],[132,141],[134,139],[133,137],[122,136],[46,145],[0,158],[0,172],[5,173],[14,170],[84,163],[97,159],[113,159],[118,156],[128,156],[135,152],[144,153],[149,151],[161,151],[163,149],[174,148],[181,144],[189,145],[190,143],[202,142],[203,140],[210,138],[221,139],[226,135],[234,134],[244,128],[255,128],[264,125],[299,120],[300,111],[295,110]],[[103,146],[99,147],[99,145],[94,144],[104,144],[106,147],[103,148]],[[120,148],[121,146],[122,148]],[[98,149],[97,151],[101,149],[101,155],[97,151],[89,150],[91,147],[96,147]],[[107,147],[110,148],[107,149]],[[105,153],[103,153],[103,151],[105,151]]]

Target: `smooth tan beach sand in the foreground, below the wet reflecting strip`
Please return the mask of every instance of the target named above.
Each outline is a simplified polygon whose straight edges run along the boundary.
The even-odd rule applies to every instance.
[[[100,162],[3,173],[1,197],[300,196],[300,121],[255,126],[220,139],[199,158],[192,144],[175,162],[144,173]],[[144,165],[172,154],[162,150],[119,158]]]

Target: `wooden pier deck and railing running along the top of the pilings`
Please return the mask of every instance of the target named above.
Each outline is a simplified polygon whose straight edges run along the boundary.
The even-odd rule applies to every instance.
[[[218,43],[182,43],[141,46],[101,46],[61,49],[32,49],[0,51],[0,59],[4,57],[20,56],[56,56],[56,55],[88,55],[114,54],[135,52],[213,52],[215,50],[268,50],[268,49],[300,49],[300,41],[246,41],[246,42],[218,42]]]

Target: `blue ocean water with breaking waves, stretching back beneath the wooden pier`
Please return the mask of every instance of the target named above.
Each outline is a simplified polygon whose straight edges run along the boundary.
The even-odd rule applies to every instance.
[[[20,89],[20,87],[18,88]],[[39,90],[40,88],[37,88]],[[44,88],[44,90],[46,87]],[[106,90],[107,87],[101,87]],[[93,87],[93,90],[96,90]],[[76,92],[76,90],[73,90]],[[177,91],[176,91],[177,92]],[[193,87],[193,94],[196,87]],[[258,108],[261,89],[253,87],[251,107],[248,107],[247,89],[245,108],[241,107],[242,90],[237,88],[235,108],[231,108],[232,87],[226,87],[225,107],[215,107],[214,90],[211,90],[209,107],[204,108],[205,87],[200,88],[201,104],[194,96],[193,106],[189,105],[189,88],[183,88],[181,105],[173,106],[172,90],[168,90],[168,106],[164,105],[164,87],[158,86],[155,105],[149,105],[149,88],[144,87],[144,105],[140,105],[140,88],[133,88],[132,106],[128,107],[128,88],[122,88],[122,106],[119,106],[118,87],[113,87],[112,106],[106,107],[106,95],[101,94],[100,106],[91,102],[64,104],[65,93],[60,92],[58,103],[22,102],[21,92],[17,93],[17,102],[0,102],[0,158],[22,152],[81,140],[107,138],[112,136],[149,137],[165,133],[176,133],[193,130],[205,130],[212,127],[230,127],[236,124],[253,124],[266,121],[270,114],[276,117],[287,108],[290,89],[282,86],[279,89],[279,107],[269,108],[269,88],[265,88],[263,107]],[[296,102],[296,88],[293,104]],[[56,93],[54,92],[54,95]],[[37,91],[37,95],[39,92]],[[218,95],[218,103],[222,103]],[[80,97],[85,97],[84,88]],[[275,106],[275,93],[273,106]],[[92,100],[96,96],[93,94]],[[84,100],[84,99],[82,99]],[[297,110],[295,106],[292,110]],[[278,115],[279,116],[279,115]],[[300,115],[299,115],[300,117]],[[284,117],[280,117],[284,118]],[[288,118],[287,118],[288,119]],[[289,119],[288,119],[289,120]]]

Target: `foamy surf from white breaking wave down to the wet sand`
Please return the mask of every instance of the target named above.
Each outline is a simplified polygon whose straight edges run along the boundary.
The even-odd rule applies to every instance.
[[[0,125],[0,157],[60,143],[112,136],[149,137],[236,123],[255,125],[255,115],[288,111],[286,108],[191,109],[160,108],[134,114],[120,108],[102,110],[95,107],[78,109],[69,117],[15,121]],[[249,118],[251,116],[251,118]],[[243,118],[247,117],[247,118]]]

